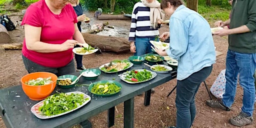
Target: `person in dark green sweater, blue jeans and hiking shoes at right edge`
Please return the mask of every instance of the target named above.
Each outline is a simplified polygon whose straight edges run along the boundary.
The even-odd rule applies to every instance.
[[[207,100],[210,107],[229,111],[234,102],[237,78],[243,88],[242,107],[240,113],[229,119],[229,123],[244,126],[253,123],[255,99],[254,77],[256,67],[256,0],[233,0],[231,18],[220,21],[217,26],[229,25],[213,34],[228,35],[226,54],[226,85],[223,98],[219,101]]]

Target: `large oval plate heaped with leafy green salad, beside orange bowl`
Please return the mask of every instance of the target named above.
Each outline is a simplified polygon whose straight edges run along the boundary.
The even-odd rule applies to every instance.
[[[91,97],[80,91],[55,93],[37,102],[31,112],[38,118],[47,119],[72,112],[90,101]]]

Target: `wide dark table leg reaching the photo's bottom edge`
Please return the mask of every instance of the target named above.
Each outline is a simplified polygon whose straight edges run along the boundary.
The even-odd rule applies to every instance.
[[[132,128],[134,119],[134,97],[124,101],[123,127]]]

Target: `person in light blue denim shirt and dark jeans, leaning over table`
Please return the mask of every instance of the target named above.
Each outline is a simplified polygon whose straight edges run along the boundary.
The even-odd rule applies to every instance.
[[[195,94],[212,70],[216,55],[208,22],[197,12],[185,7],[182,0],[161,0],[163,12],[170,16],[169,48],[156,49],[178,61],[176,88],[176,127],[190,127],[195,117]]]

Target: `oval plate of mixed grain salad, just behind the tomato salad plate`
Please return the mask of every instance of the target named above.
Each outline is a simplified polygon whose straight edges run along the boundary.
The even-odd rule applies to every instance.
[[[125,60],[113,60],[109,63],[99,66],[98,68],[106,73],[113,73],[113,72],[128,69],[132,65],[133,65],[133,63],[129,62],[126,59]]]

